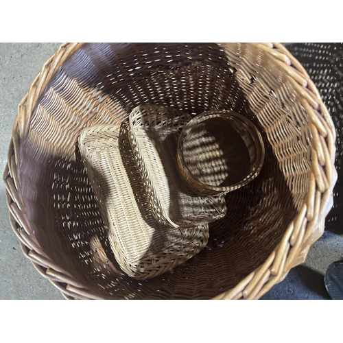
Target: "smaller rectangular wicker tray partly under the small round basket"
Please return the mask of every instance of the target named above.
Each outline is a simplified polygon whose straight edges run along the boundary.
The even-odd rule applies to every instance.
[[[226,215],[224,196],[193,193],[176,169],[178,137],[191,116],[176,108],[141,105],[129,116],[129,141],[152,215],[161,224],[187,228]]]

